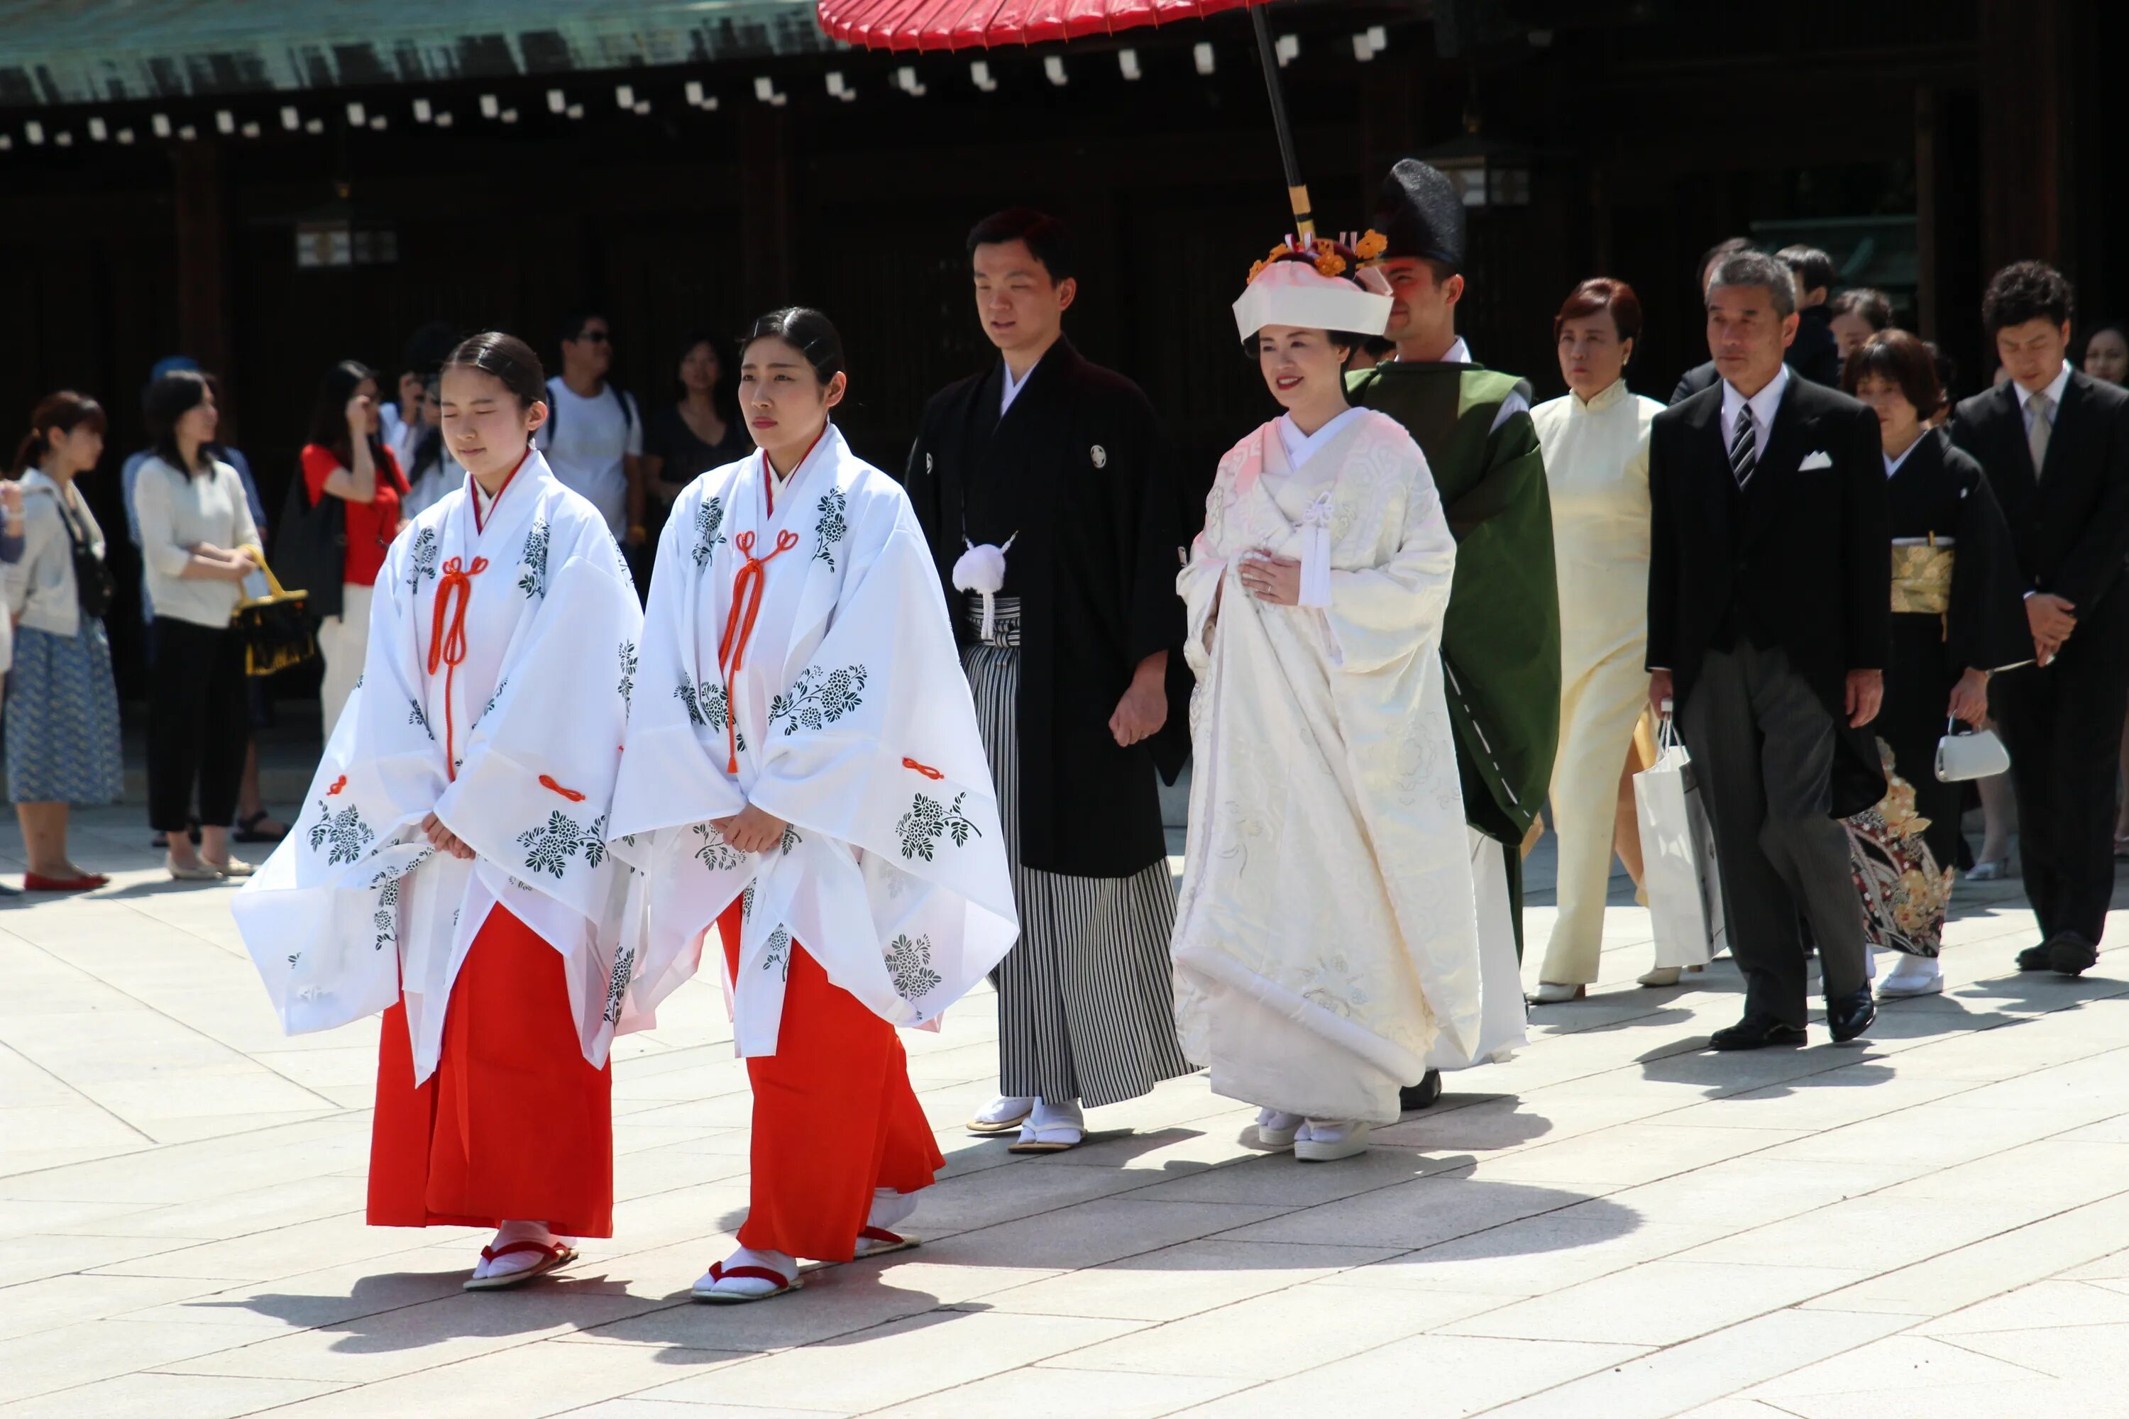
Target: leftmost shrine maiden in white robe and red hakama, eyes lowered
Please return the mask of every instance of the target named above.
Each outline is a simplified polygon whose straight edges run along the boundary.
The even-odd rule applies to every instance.
[[[605,519],[530,447],[545,398],[513,336],[445,362],[473,477],[385,553],[309,806],[234,902],[285,1030],[383,1013],[368,1221],[498,1228],[466,1289],[613,1236],[607,806],[643,617]]]

